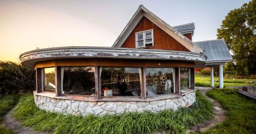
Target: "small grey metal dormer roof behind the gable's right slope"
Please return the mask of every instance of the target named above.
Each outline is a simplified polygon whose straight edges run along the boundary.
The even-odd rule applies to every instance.
[[[180,32],[181,34],[192,34],[194,35],[194,30],[195,30],[195,24],[194,22],[192,23],[187,23],[187,24],[182,24],[179,26],[174,26],[173,27],[175,30]]]

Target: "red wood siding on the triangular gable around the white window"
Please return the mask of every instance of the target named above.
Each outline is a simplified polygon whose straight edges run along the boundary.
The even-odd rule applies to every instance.
[[[172,51],[187,51],[189,50],[181,45],[177,40],[168,35],[164,30],[156,26],[145,16],[140,20],[137,26],[133,29],[129,37],[124,41],[121,47],[135,48],[135,32],[154,29],[154,46],[149,49],[163,49]]]

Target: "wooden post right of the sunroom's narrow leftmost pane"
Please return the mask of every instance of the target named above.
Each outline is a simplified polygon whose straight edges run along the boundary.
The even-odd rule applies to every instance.
[[[61,66],[55,66],[55,96],[61,96]]]

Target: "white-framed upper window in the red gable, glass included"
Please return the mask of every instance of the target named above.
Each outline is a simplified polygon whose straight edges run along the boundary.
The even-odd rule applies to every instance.
[[[136,48],[154,46],[153,29],[135,33]]]

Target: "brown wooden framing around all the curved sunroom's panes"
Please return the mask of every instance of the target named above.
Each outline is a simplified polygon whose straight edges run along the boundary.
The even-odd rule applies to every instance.
[[[86,62],[85,62],[86,61]],[[106,60],[106,59],[102,59],[102,60],[85,60],[84,59],[78,59],[75,60],[75,63],[70,64],[70,60],[68,61],[63,61],[63,60],[59,60],[57,61],[58,64],[51,64],[51,65],[42,65],[42,66],[38,66],[39,68],[35,68],[36,69],[36,88],[37,88],[37,93],[42,93],[43,92],[43,75],[42,75],[42,70],[44,70],[44,68],[55,68],[55,87],[56,90],[58,90],[59,92],[55,93],[55,96],[63,96],[63,97],[72,97],[71,95],[61,95],[61,87],[59,88],[60,84],[58,85],[58,82],[56,83],[56,79],[61,81],[61,78],[59,78],[59,76],[61,76],[61,71],[58,71],[58,67],[60,69],[60,66],[94,66],[95,72],[94,72],[94,77],[95,77],[95,96],[84,96],[84,95],[74,95],[77,98],[80,99],[90,99],[90,100],[99,100],[102,99],[103,101],[111,101],[112,99],[117,99],[117,100],[121,100],[124,99],[125,101],[127,100],[141,100],[141,99],[147,99],[147,89],[146,89],[146,68],[174,68],[174,75],[175,75],[175,83],[174,83],[174,94],[176,95],[181,95],[180,93],[180,68],[189,68],[190,69],[190,89],[194,89],[195,88],[195,74],[194,72],[194,64],[190,64],[190,63],[186,63],[186,62],[165,62],[165,61],[147,61],[147,60],[138,60],[138,61],[134,61],[134,60],[127,60],[125,63],[121,60]],[[74,60],[72,60],[72,62],[74,62]],[[141,74],[142,74],[142,80],[143,83],[141,84],[141,96],[138,96],[138,99],[136,99],[137,96],[135,97],[131,97],[129,96],[131,99],[129,99],[129,97],[125,97],[125,96],[114,96],[114,97],[105,97],[105,98],[100,98],[100,89],[101,89],[101,85],[100,85],[100,78],[99,78],[99,68],[100,66],[118,66],[118,67],[127,67],[127,68],[141,68]],[[57,70],[56,70],[57,69]],[[57,74],[58,73],[58,74]],[[59,82],[60,83],[60,82]],[[62,85],[61,85],[62,86]],[[45,91],[47,92],[47,91]],[[53,92],[47,92],[47,93],[51,93],[54,94]],[[173,93],[172,93],[173,94]],[[170,95],[172,95],[170,94]],[[166,95],[166,94],[165,94]],[[163,95],[163,96],[165,96]],[[151,97],[148,97],[149,99],[151,99]]]

